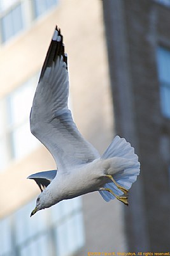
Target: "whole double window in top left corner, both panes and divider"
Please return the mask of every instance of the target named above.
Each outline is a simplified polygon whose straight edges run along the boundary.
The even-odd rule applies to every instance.
[[[0,0],[0,37],[5,43],[48,12],[58,0]]]

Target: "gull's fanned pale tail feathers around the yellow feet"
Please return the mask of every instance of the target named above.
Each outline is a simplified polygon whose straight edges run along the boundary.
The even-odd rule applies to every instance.
[[[130,189],[140,172],[138,156],[134,153],[131,144],[124,138],[116,136],[101,159],[107,159],[110,162],[110,168],[106,174],[111,175],[120,186]],[[124,194],[113,182],[106,183],[104,188],[111,189],[117,196]],[[115,196],[108,191],[99,191],[99,193],[106,202],[115,199]]]

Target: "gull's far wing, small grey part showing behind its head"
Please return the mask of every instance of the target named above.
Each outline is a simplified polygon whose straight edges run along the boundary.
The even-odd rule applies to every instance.
[[[45,189],[51,181],[55,178],[57,174],[57,170],[45,171],[45,172],[38,172],[32,175],[29,175],[27,179],[35,180],[36,184],[38,184],[41,192]]]

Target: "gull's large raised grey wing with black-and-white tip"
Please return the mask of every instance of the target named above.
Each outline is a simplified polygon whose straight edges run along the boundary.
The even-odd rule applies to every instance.
[[[31,132],[51,152],[58,170],[69,170],[99,157],[73,122],[67,107],[69,78],[62,35],[55,29],[34,95]]]

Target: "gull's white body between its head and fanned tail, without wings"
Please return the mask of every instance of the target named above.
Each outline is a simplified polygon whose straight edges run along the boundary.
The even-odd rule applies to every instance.
[[[117,163],[121,165],[117,166]],[[50,195],[53,197],[53,204],[57,204],[61,200],[99,191],[106,182],[110,181],[106,175],[114,175],[119,172],[122,167],[124,168],[124,164],[127,167],[127,159],[122,157],[100,158],[92,163],[83,164],[80,168],[74,168],[69,172],[69,175],[68,173],[59,172],[57,173],[57,179],[52,180],[50,185],[43,191],[43,194],[48,194],[48,191],[50,191]],[[136,163],[129,161],[130,167],[135,165]]]

